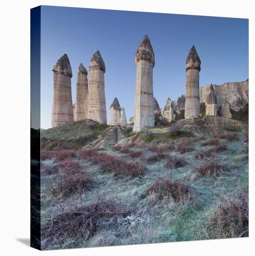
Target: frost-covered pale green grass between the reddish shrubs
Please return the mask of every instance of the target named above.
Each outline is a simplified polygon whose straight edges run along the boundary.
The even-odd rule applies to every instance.
[[[164,128],[163,128],[164,129]],[[156,128],[155,128],[156,130]],[[160,134],[157,128],[157,134]],[[156,132],[155,132],[156,133]],[[106,201],[114,198],[114,202],[118,206],[124,206],[123,210],[118,211],[116,215],[111,212],[107,215],[100,215],[97,228],[89,236],[66,236],[61,240],[53,240],[51,237],[43,240],[43,249],[64,249],[73,247],[94,247],[108,245],[126,245],[141,243],[163,243],[175,241],[190,241],[217,238],[215,232],[217,226],[212,233],[211,229],[205,225],[215,212],[219,197],[228,196],[233,200],[237,200],[241,191],[248,192],[248,154],[247,143],[245,142],[245,134],[236,132],[239,140],[227,141],[219,139],[226,144],[226,150],[214,151],[213,156],[217,157],[220,164],[228,165],[228,171],[222,171],[217,175],[194,175],[194,168],[201,166],[205,158],[211,157],[210,154],[205,157],[196,157],[196,152],[209,151],[213,149],[213,145],[201,146],[202,141],[193,140],[193,151],[179,153],[175,148],[165,148],[163,152],[166,157],[159,161],[147,160],[156,154],[153,147],[161,147],[168,143],[178,145],[177,141],[172,138],[167,141],[168,137],[163,135],[164,145],[154,145],[152,141],[146,142],[143,148],[137,148],[132,145],[129,149],[131,152],[143,152],[132,157],[128,154],[121,153],[121,150],[107,149],[100,153],[109,154],[113,157],[123,159],[125,162],[139,162],[146,166],[142,175],[114,175],[112,172],[106,172],[101,168],[100,164],[92,163],[89,158],[79,156],[76,152],[75,161],[79,163],[81,173],[88,175],[92,179],[92,186],[83,193],[71,193],[63,198],[58,195],[47,193],[46,188],[51,185],[52,180],[58,177],[58,172],[42,172],[41,174],[41,203],[42,203],[42,225],[45,225],[52,216],[58,216],[70,211],[70,205],[80,206],[78,209],[89,209],[94,202],[98,202],[99,198]],[[164,134],[167,134],[165,129]],[[157,135],[158,138],[160,135]],[[203,141],[210,140],[212,137],[203,138]],[[93,154],[93,152],[92,152]],[[167,161],[173,159],[181,159],[185,164],[168,165]],[[56,166],[58,163],[54,159],[47,159],[44,166]],[[169,189],[165,192],[161,183],[157,181],[168,182]],[[157,189],[150,189],[154,188]],[[177,184],[171,187],[171,184]],[[185,184],[185,187],[178,186]],[[152,187],[151,187],[152,186]],[[173,189],[181,188],[184,193],[182,200],[176,200]],[[163,191],[163,192],[162,192]],[[170,192],[169,192],[170,191]],[[192,200],[184,200],[192,191]],[[240,192],[240,193],[239,193]],[[182,194],[181,194],[182,195]],[[183,199],[184,198],[184,199]],[[224,200],[222,201],[224,202]],[[72,207],[71,207],[72,209]],[[76,208],[75,208],[76,209]],[[111,209],[109,208],[109,211]],[[126,212],[122,215],[119,212]],[[62,216],[62,215],[61,215]],[[233,215],[235,216],[235,215]],[[114,221],[111,221],[114,220]],[[76,221],[76,220],[75,220]],[[75,222],[76,223],[76,222]],[[234,230],[235,231],[235,230]],[[231,231],[233,236],[239,234],[238,230]],[[227,231],[226,231],[227,232]],[[54,233],[49,232],[49,234]],[[219,233],[220,234],[220,233]],[[231,237],[230,233],[225,237]],[[246,232],[247,234],[247,232]]]

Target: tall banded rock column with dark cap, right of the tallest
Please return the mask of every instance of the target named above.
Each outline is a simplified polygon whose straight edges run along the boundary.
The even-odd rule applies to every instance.
[[[199,71],[201,61],[193,45],[186,60],[186,102],[185,118],[194,118],[200,115],[199,103]]]

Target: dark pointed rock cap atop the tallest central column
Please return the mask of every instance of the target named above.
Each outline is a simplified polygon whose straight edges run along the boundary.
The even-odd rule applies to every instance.
[[[155,56],[147,34],[137,49],[135,61],[136,63],[139,61],[149,61],[153,64],[153,67],[155,66]]]

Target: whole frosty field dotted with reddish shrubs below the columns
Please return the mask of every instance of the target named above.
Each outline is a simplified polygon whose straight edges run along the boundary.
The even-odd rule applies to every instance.
[[[43,249],[248,236],[247,131],[167,129],[128,146],[47,155]]]

